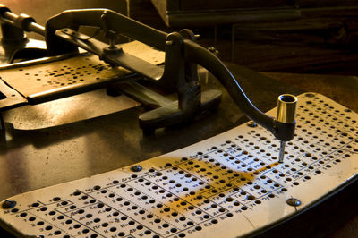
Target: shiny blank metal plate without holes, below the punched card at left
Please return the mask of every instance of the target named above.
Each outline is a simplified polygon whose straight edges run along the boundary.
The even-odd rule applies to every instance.
[[[40,105],[21,106],[3,112],[4,122],[17,130],[36,130],[80,122],[113,114],[140,103],[124,95],[108,96],[106,89],[98,89]]]

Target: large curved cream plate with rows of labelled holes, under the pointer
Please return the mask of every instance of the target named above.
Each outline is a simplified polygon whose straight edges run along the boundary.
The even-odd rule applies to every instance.
[[[15,234],[59,237],[234,237],[310,208],[358,173],[358,115],[299,96],[297,130],[279,142],[245,123],[132,166],[13,196],[0,221]],[[275,115],[275,109],[269,112]],[[300,206],[286,200],[298,199]]]

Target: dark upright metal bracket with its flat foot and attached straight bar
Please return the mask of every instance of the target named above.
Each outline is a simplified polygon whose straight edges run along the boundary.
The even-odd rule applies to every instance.
[[[106,22],[104,24],[106,25],[105,30],[107,30],[107,14],[102,14],[101,19]],[[93,38],[83,39],[84,37],[81,33],[75,30],[57,30],[55,34],[96,55],[100,55],[100,58],[108,64],[121,65],[143,75],[166,90],[178,93],[177,101],[155,108],[153,111],[149,111],[139,117],[140,126],[145,134],[151,134],[158,128],[188,122],[194,119],[196,115],[200,115],[201,112],[208,111],[209,106],[215,110],[221,101],[221,92],[218,90],[209,91],[201,97],[197,65],[186,61],[183,56],[184,39],[195,40],[191,30],[181,30],[180,33],[173,32],[166,36],[166,64],[164,70],[160,66],[149,64],[133,55],[129,55],[115,46],[107,47],[106,44]],[[127,91],[128,88],[121,89],[120,85],[112,87],[127,96],[140,100],[143,104],[147,104],[147,99],[148,97],[150,98],[150,96],[146,99],[141,97],[142,88]],[[158,97],[150,100],[155,101],[156,98]]]

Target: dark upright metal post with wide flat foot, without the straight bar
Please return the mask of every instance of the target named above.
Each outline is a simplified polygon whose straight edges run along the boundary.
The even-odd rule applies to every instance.
[[[158,81],[166,89],[175,89],[178,100],[140,115],[139,122],[144,134],[153,134],[158,128],[191,121],[202,112],[216,109],[220,104],[221,91],[209,90],[201,94],[197,66],[186,62],[183,57],[183,36],[195,38],[190,30],[168,34],[166,38],[166,64],[163,76]],[[118,87],[121,90],[121,86],[118,85]],[[143,93],[140,87],[135,92],[133,90],[129,92],[128,89],[122,90],[124,90],[124,94],[136,99],[141,99],[140,95]],[[153,92],[149,98],[150,101],[158,100],[158,96]],[[144,100],[143,103],[146,103],[146,101]],[[160,103],[152,105],[157,106]]]

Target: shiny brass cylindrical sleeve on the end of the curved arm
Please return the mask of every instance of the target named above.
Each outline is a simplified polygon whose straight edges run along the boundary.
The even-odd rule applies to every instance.
[[[297,98],[291,94],[282,94],[277,99],[276,120],[280,123],[294,123]]]

